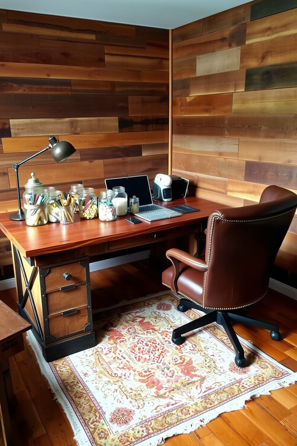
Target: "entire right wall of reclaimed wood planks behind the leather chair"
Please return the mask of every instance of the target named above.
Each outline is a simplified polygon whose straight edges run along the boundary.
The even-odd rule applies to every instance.
[[[297,0],[257,0],[173,30],[172,173],[196,196],[297,190],[296,22]],[[296,226],[277,258],[295,273]]]

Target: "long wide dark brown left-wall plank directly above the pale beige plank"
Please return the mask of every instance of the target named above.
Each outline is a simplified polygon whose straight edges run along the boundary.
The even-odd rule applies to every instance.
[[[126,96],[0,94],[0,119],[128,116]]]

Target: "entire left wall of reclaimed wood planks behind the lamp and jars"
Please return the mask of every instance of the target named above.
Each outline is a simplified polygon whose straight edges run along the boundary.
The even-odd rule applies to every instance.
[[[2,211],[17,207],[13,162],[49,135],[77,150],[58,165],[50,150],[22,165],[21,193],[32,171],[47,186],[98,192],[120,171],[168,173],[169,31],[1,10]]]

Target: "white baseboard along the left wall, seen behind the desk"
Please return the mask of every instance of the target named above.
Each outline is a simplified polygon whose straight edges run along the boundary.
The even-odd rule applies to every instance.
[[[148,259],[150,250],[134,252],[126,254],[125,256],[112,257],[111,259],[99,260],[98,262],[90,263],[90,273],[92,271],[99,271],[99,269],[110,268],[112,266],[124,265],[125,263],[135,262],[137,260]],[[5,289],[15,288],[16,283],[14,277],[12,279],[5,279],[0,281],[0,291]]]

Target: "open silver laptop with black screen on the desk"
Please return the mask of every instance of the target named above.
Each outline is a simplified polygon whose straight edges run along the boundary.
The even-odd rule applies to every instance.
[[[182,213],[168,209],[163,206],[158,206],[153,203],[151,197],[151,188],[147,175],[138,175],[135,177],[123,178],[107,178],[105,180],[106,189],[112,189],[116,186],[123,186],[128,196],[128,211],[130,197],[139,198],[139,212],[135,214],[136,217],[147,220],[149,222],[155,220],[169,219],[172,217],[179,217]]]

